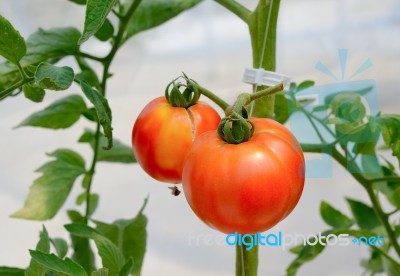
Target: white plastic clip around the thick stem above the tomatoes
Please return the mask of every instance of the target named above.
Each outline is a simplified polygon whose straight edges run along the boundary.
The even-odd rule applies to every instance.
[[[266,71],[263,68],[246,68],[243,74],[243,82],[265,86],[274,86],[283,82],[283,86],[287,89],[289,88],[290,78],[283,74]]]

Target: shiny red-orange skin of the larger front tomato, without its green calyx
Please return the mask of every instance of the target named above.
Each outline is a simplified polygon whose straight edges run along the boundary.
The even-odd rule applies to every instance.
[[[304,186],[304,155],[283,125],[251,118],[247,142],[200,135],[187,155],[182,184],[195,214],[223,233],[266,231],[294,209]]]

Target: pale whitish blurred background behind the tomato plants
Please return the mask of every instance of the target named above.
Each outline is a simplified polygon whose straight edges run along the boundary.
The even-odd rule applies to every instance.
[[[254,8],[256,1],[240,1]],[[0,14],[27,38],[37,28],[72,25],[82,30],[84,9],[65,0],[0,1]],[[317,62],[340,76],[338,49],[348,49],[346,73],[351,76],[368,58],[373,66],[353,80],[376,82],[383,113],[399,113],[400,2],[397,0],[282,0],[278,21],[277,72],[293,81],[311,79],[316,85],[338,82],[315,69]],[[109,46],[91,39],[83,48],[102,55]],[[64,64],[75,66],[65,59]],[[250,39],[246,26],[211,0],[181,14],[156,29],[131,39],[112,64],[108,98],[113,110],[114,135],[130,144],[133,122],[143,106],[163,94],[169,81],[182,71],[221,97],[232,102],[239,92],[250,91],[242,74],[251,67]],[[76,141],[89,126],[84,119],[68,130],[13,129],[31,113],[70,93],[47,92],[43,103],[33,104],[23,96],[0,102],[0,266],[25,267],[29,248],[34,248],[42,224],[52,237],[68,240],[63,224],[65,210],[75,206],[81,192],[76,182],[69,200],[51,221],[11,219],[23,206],[34,172],[48,161],[45,153],[71,148],[90,160],[90,149]],[[138,165],[101,163],[93,191],[100,194],[94,218],[112,222],[136,215],[149,195],[145,214],[149,218],[148,245],[143,275],[233,275],[234,248],[220,233],[208,228],[192,213],[184,196],[173,197],[169,185],[147,176]],[[334,164],[333,177],[307,179],[304,194],[293,213],[269,233],[317,233],[327,229],[319,216],[326,200],[349,214],[344,197],[367,200],[361,187]],[[367,201],[368,202],[368,201]],[[222,240],[222,242],[221,242]],[[365,246],[328,247],[298,275],[360,275]],[[284,275],[295,256],[282,248],[260,248],[259,275]]]

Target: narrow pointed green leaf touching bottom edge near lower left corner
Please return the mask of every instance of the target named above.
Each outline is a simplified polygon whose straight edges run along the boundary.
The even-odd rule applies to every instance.
[[[29,250],[29,252],[31,254],[31,257],[36,262],[52,271],[71,276],[87,276],[83,267],[75,263],[71,259],[65,258],[63,260],[54,254],[48,254],[35,250]]]

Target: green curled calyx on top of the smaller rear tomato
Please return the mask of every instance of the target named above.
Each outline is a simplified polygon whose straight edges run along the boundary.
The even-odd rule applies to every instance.
[[[183,78],[185,83],[179,82],[180,78]],[[188,108],[197,103],[200,95],[196,82],[185,74],[171,81],[165,88],[165,98],[174,107]]]

